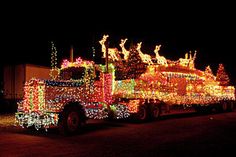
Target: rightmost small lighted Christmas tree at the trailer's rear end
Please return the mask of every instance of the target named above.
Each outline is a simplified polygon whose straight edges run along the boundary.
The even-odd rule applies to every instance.
[[[220,82],[221,86],[227,86],[229,85],[229,76],[225,72],[225,68],[223,64],[219,64],[217,74],[216,74],[216,80]]]

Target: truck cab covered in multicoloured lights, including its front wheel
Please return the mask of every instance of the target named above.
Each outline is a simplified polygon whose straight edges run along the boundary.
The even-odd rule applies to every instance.
[[[108,118],[111,112],[121,118],[127,113],[121,104],[113,104],[112,64],[106,71],[104,65],[78,58],[64,60],[58,70],[54,79],[32,78],[25,83],[24,99],[16,113],[20,126],[47,130],[55,125],[62,133],[74,133],[89,118]]]

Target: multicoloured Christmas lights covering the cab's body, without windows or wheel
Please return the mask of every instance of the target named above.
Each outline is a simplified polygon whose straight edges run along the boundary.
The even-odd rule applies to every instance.
[[[67,80],[66,75],[75,72],[74,68],[77,70],[83,68],[83,77]],[[95,68],[101,72],[101,79],[96,82]],[[62,112],[63,106],[70,102],[81,103],[88,118],[108,117],[108,104],[113,102],[114,66],[112,64],[109,65],[110,73],[104,73],[105,66],[95,67],[93,62],[77,58],[75,62],[64,60],[60,71],[60,80],[32,78],[25,83],[24,100],[18,103],[16,113],[17,123],[20,126],[34,125],[36,129],[41,127],[47,129],[49,125],[57,125],[58,114]],[[116,117],[127,116],[128,113],[125,113],[124,109],[117,107]]]

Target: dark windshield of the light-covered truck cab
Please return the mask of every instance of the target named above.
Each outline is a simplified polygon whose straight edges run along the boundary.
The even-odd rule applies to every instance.
[[[79,80],[84,76],[85,68],[84,67],[70,67],[63,69],[60,73],[60,77],[63,80]]]

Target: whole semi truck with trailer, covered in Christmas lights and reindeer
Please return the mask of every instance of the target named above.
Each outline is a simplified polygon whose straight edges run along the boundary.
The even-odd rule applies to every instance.
[[[172,109],[232,111],[233,86],[222,86],[209,70],[198,70],[196,52],[177,61],[143,53],[142,42],[125,48],[107,46],[108,35],[99,41],[103,63],[63,60],[53,68],[52,79],[32,78],[24,86],[24,98],[18,103],[16,122],[36,129],[57,126],[62,133],[75,133],[92,119],[140,121],[157,119]]]

